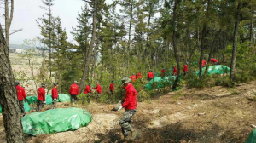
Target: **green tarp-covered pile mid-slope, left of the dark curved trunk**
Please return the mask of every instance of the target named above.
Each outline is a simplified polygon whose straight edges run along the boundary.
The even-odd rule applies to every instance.
[[[145,85],[145,88],[148,90],[164,88],[166,86],[171,85],[174,82],[175,78],[176,76],[172,76],[171,78],[170,77],[154,77],[154,79],[150,80]]]

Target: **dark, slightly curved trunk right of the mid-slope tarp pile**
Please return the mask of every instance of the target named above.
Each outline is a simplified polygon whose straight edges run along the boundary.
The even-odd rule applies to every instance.
[[[180,73],[179,57],[177,54],[177,45],[176,45],[176,14],[177,14],[177,4],[178,3],[179,3],[179,0],[175,0],[174,8],[173,8],[173,21],[172,21],[172,26],[173,26],[172,44],[173,44],[174,55],[175,55],[175,59],[176,59],[176,63],[177,63],[177,77],[175,79],[175,82],[172,85],[172,90],[176,89],[176,87],[177,87],[177,82],[178,82],[179,73]]]

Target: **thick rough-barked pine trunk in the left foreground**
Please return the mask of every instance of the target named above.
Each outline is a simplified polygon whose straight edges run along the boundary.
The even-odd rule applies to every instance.
[[[20,119],[20,107],[15,89],[15,77],[9,60],[9,47],[3,37],[0,26],[0,104],[6,140],[8,143],[22,143],[23,129]]]

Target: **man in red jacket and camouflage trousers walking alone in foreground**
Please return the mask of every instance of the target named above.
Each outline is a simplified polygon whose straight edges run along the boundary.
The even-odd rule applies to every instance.
[[[132,140],[136,138],[137,131],[131,128],[131,118],[136,113],[137,108],[137,91],[131,83],[131,79],[124,77],[122,79],[122,85],[125,91],[125,98],[122,100],[122,107],[125,108],[125,113],[119,120],[119,124],[122,128],[122,133],[127,139],[128,135],[131,133]]]

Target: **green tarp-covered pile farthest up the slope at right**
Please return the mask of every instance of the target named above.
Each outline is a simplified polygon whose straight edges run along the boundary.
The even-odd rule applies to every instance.
[[[206,71],[206,67],[202,68],[202,73]],[[230,67],[224,66],[224,65],[215,65],[215,66],[209,66],[208,69],[208,75],[212,74],[224,74],[224,73],[230,73]],[[196,71],[195,74],[199,75],[199,71]]]

